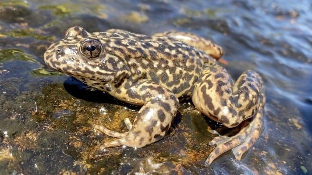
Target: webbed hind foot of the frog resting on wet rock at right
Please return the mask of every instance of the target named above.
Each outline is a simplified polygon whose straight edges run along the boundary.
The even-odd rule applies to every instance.
[[[252,121],[243,121],[240,131],[233,136],[217,136],[209,142],[216,144],[216,148],[210,153],[205,164],[210,165],[212,161],[224,152],[232,150],[235,158],[241,160],[242,155],[256,142],[262,131],[262,111],[259,111]]]

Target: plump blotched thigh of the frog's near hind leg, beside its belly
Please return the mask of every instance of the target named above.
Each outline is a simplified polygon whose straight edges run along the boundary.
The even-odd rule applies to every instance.
[[[233,81],[227,71],[219,66],[203,66],[202,73],[193,92],[195,107],[212,120],[220,121],[227,127],[237,125],[232,99]],[[228,119],[232,114],[232,118]],[[236,117],[236,118],[235,118]]]

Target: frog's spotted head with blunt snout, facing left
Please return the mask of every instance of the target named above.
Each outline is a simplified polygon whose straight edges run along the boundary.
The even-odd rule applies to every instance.
[[[101,33],[88,33],[82,27],[69,28],[62,40],[47,49],[44,61],[53,69],[74,77],[110,81],[122,65],[113,65],[117,65],[119,59],[104,52],[105,38],[100,36]]]

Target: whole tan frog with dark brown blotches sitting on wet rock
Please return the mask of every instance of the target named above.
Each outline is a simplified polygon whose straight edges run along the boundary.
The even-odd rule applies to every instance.
[[[210,165],[229,150],[240,160],[263,128],[261,76],[247,70],[233,81],[219,62],[222,55],[222,47],[188,32],[147,36],[121,29],[87,32],[74,26],[48,47],[44,61],[120,101],[141,106],[133,123],[124,119],[127,132],[92,125],[114,137],[99,147],[102,151],[116,146],[142,148],[161,140],[182,100],[191,100],[203,116],[226,128],[237,128],[235,135],[218,135],[209,142],[216,145],[205,161]]]

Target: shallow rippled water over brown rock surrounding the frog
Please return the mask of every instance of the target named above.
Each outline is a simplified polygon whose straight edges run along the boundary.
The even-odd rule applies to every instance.
[[[261,138],[242,161],[227,153],[205,167],[206,156],[181,158],[188,149],[181,146],[176,152],[162,144],[187,145],[188,137],[181,135],[185,128],[204,133],[194,135],[200,145],[212,138],[205,136],[206,126],[186,102],[179,110],[182,121],[163,142],[138,152],[93,154],[104,138],[90,127],[97,115],[108,112],[100,122],[112,122],[134,117],[137,109],[124,109],[124,104],[44,65],[47,46],[76,25],[91,32],[120,28],[151,35],[177,30],[212,39],[224,48],[223,58],[229,62],[225,67],[233,78],[247,69],[264,78],[267,102]],[[166,162],[162,167],[170,173],[310,174],[311,45],[310,1],[1,1],[0,173],[152,172],[146,162],[153,157],[155,163]],[[184,141],[175,141],[179,134]],[[199,153],[209,151],[201,146]]]

